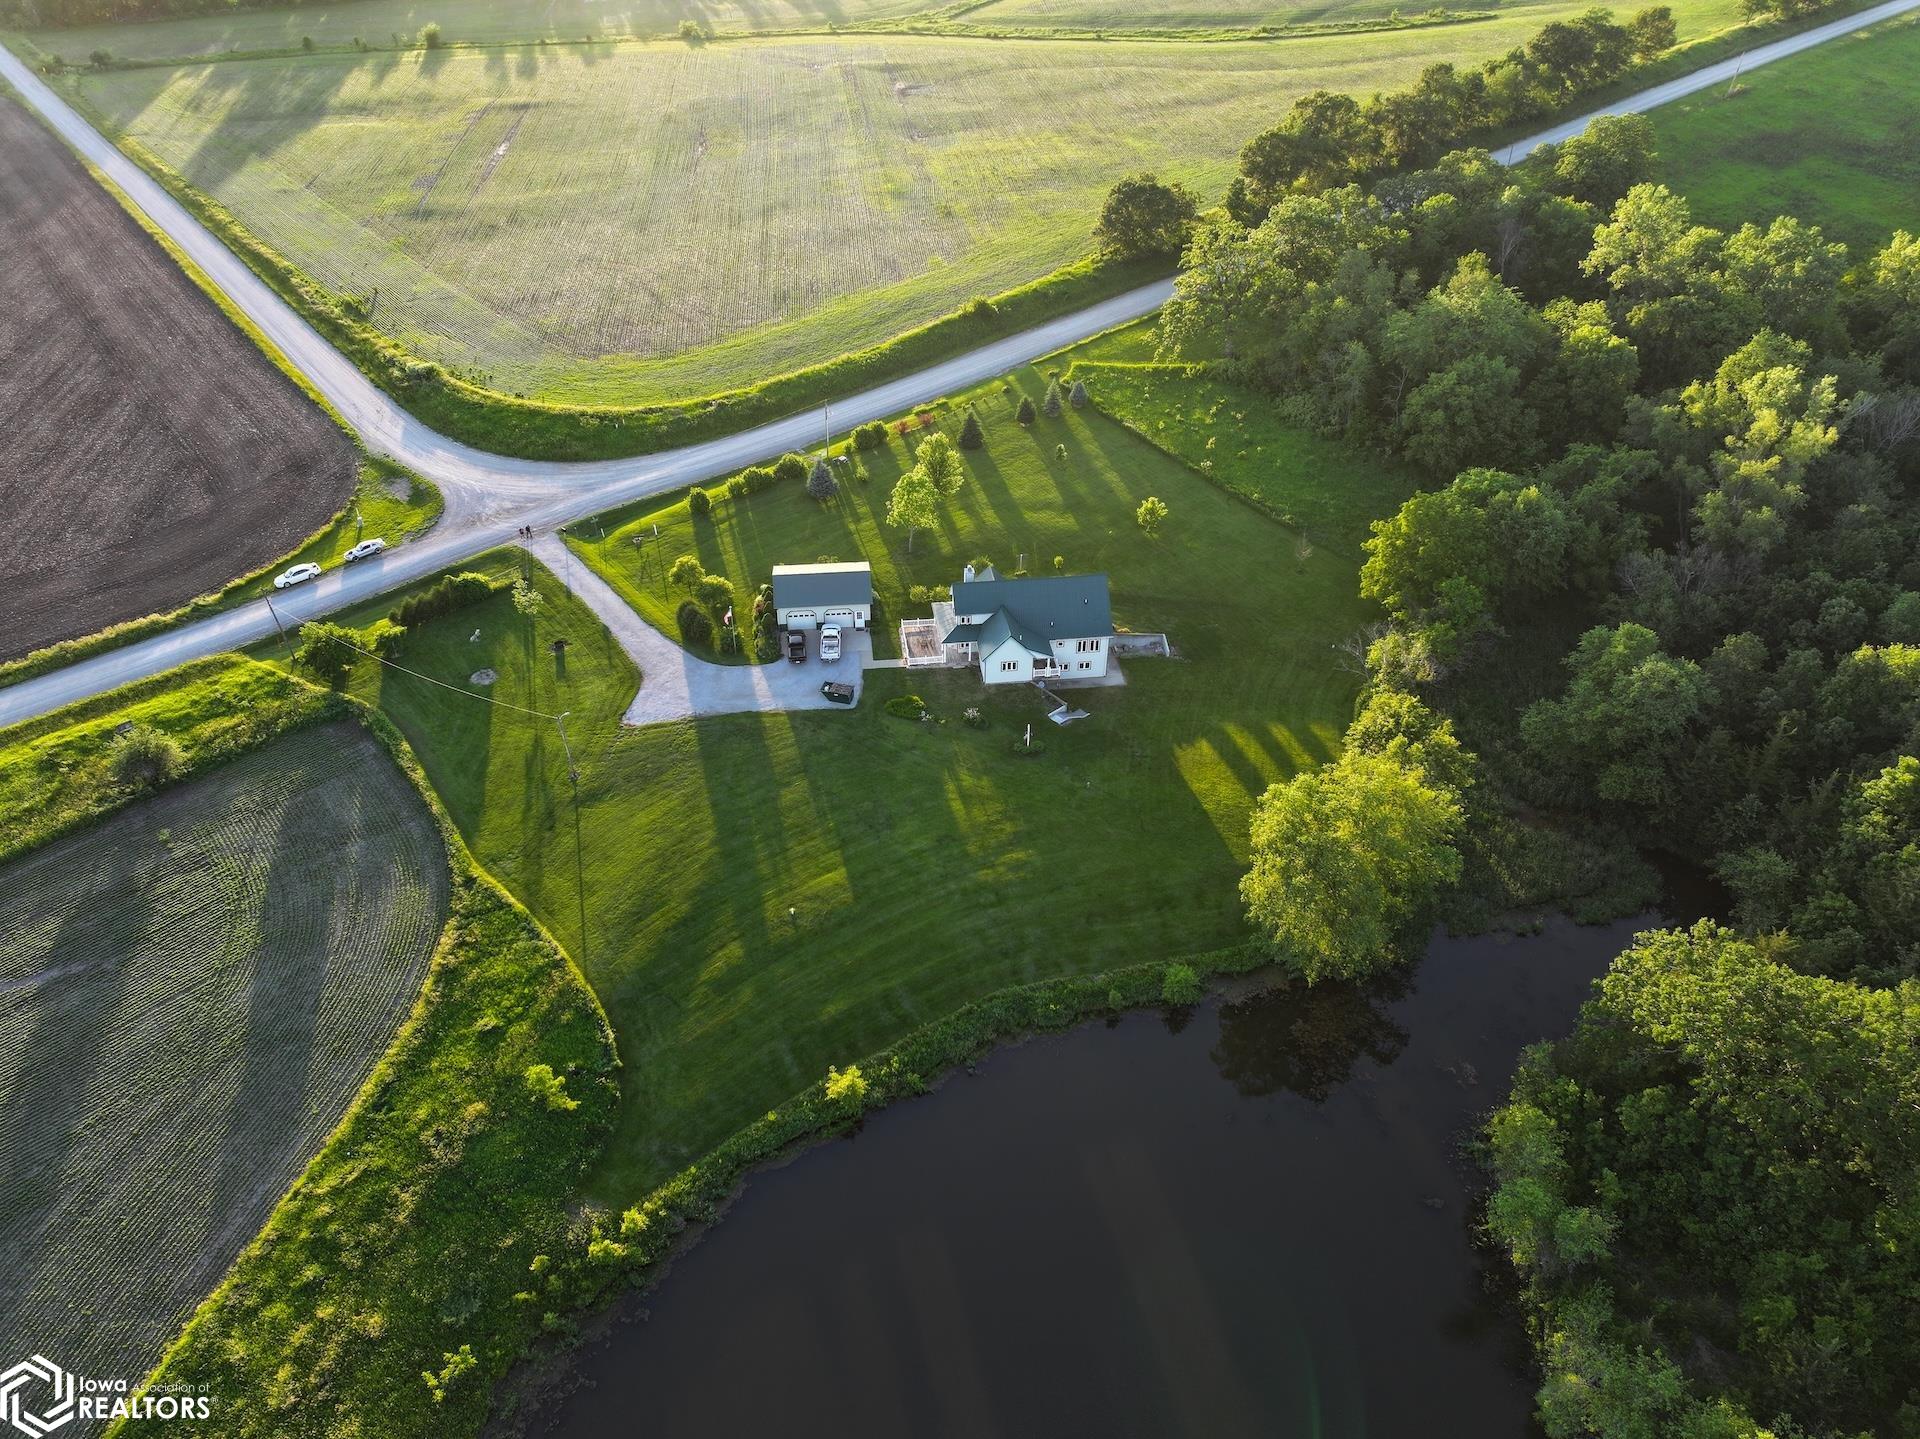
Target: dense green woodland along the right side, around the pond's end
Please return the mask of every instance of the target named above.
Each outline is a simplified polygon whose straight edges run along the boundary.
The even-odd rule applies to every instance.
[[[1705,861],[1734,928],[1622,957],[1490,1132],[1542,1414],[1920,1435],[1920,242],[1718,231],[1653,173],[1611,119],[1194,236],[1165,346],[1432,480],[1367,544],[1348,753],[1260,801],[1242,895],[1313,980],[1390,963],[1500,809]]]

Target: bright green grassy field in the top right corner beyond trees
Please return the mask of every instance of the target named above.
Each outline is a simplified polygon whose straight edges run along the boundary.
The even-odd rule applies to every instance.
[[[1920,19],[1832,40],[1653,111],[1667,183],[1709,225],[1797,215],[1855,259],[1920,229]]]

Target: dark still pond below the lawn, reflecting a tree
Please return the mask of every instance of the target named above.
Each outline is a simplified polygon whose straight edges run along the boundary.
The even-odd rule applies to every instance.
[[[998,1051],[756,1176],[536,1433],[1536,1433],[1459,1141],[1640,922]]]

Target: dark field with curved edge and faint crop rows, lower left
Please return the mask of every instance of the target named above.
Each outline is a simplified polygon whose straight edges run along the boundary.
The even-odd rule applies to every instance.
[[[138,1379],[386,1051],[445,909],[434,820],[353,724],[0,868],[0,1333]]]

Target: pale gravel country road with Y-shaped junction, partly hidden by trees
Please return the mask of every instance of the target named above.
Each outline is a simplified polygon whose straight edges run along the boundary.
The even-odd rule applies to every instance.
[[[1872,10],[1818,25],[1772,44],[1684,75],[1667,85],[1626,96],[1590,115],[1517,140],[1501,152],[1513,161],[1542,144],[1578,134],[1594,115],[1649,110],[1684,94],[1732,81],[1784,56],[1811,50],[1841,35],[1920,8],[1920,0],[1889,0]],[[449,440],[428,428],[307,325],[211,231],[186,213],[157,181],[121,154],[65,100],[50,90],[21,60],[0,44],[0,79],[36,110],[81,156],[98,167],[154,225],[180,246],[196,265],[267,334],[273,344],[326,396],[369,450],[390,455],[442,488],[447,511],[424,540],[276,598],[280,621],[294,624],[324,615],[434,571],[457,565],[484,549],[513,544],[522,524],[551,530],[566,521],[609,509],[628,500],[674,490],[682,484],[726,475],[785,450],[806,450],[822,434],[818,411],[758,425],[720,440],[666,450],[657,455],[588,463],[509,459]],[[1140,315],[1150,315],[1173,292],[1171,280],[1144,284],[1073,315],[981,346],[966,355],[899,380],[833,402],[833,428],[845,432],[870,419],[885,419],[945,394],[991,380],[996,375],[1052,354]],[[0,726],[44,715],[75,699],[119,684],[159,674],[190,659],[253,644],[275,632],[267,601],[238,605],[221,615],[182,624],[150,640],[121,646],[60,671],[0,690]]]

